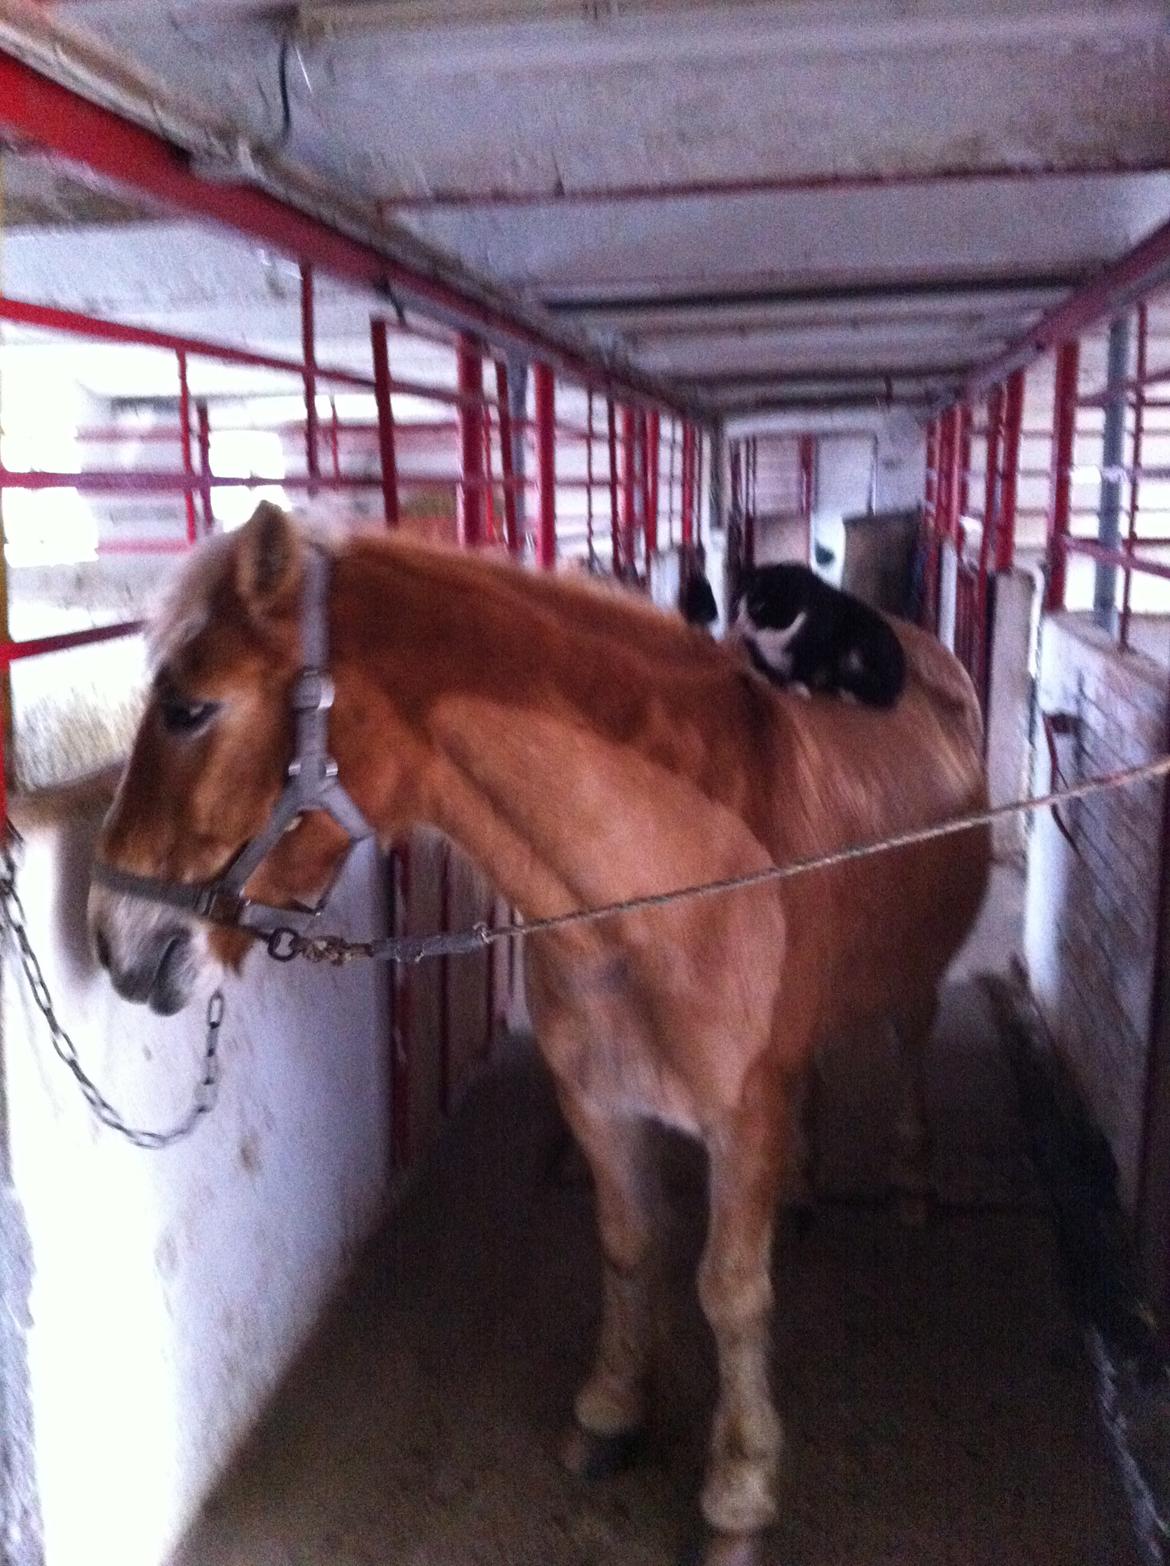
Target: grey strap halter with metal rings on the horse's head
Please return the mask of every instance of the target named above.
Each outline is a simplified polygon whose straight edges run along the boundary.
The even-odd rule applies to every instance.
[[[282,930],[305,930],[312,926],[337,885],[337,874],[354,844],[374,836],[337,777],[337,763],[329,755],[329,708],[334,705],[334,681],[329,678],[329,554],[312,543],[305,550],[304,584],[301,590],[301,672],[293,683],[290,705],[294,717],[293,760],[288,763],[285,786],[273,806],[266,825],[243,846],[227,869],[210,882],[168,882],[155,875],[135,875],[100,860],[92,879],[110,891],[144,897],[169,908],[182,908],[215,924],[238,926],[271,933],[276,922]],[[315,907],[274,908],[244,896],[244,886],[260,861],[271,853],[288,827],[312,811],[324,811],[349,839],[338,871]]]

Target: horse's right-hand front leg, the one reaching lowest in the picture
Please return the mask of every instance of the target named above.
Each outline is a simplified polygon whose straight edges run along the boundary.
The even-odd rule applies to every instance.
[[[711,1160],[710,1228],[699,1298],[719,1355],[719,1400],[702,1506],[719,1535],[744,1539],[777,1511],[783,1431],[772,1403],[772,1229],[782,1174],[793,1151],[791,1106],[775,1084],[749,1085],[744,1106],[706,1132]],[[739,1560],[716,1539],[706,1560]]]

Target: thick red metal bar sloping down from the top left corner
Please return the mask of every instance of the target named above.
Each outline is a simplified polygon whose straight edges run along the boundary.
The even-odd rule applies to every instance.
[[[6,53],[0,53],[0,125],[20,141],[146,191],[168,207],[249,235],[318,271],[456,313],[468,327],[506,337],[584,384],[623,388],[625,395],[675,406],[659,382],[630,371],[611,374],[558,330],[543,330],[503,296],[493,298],[487,285],[443,277],[437,260],[409,263],[384,255],[255,185],[200,179],[183,149]]]

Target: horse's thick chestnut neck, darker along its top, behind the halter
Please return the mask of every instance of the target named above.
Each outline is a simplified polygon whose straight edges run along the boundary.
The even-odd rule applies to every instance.
[[[661,700],[710,651],[620,601],[553,600],[489,570],[453,565],[446,584],[407,572],[381,614],[370,600],[362,655],[415,714],[410,816],[465,849],[528,916],[699,879],[695,817],[710,806],[672,756]]]

